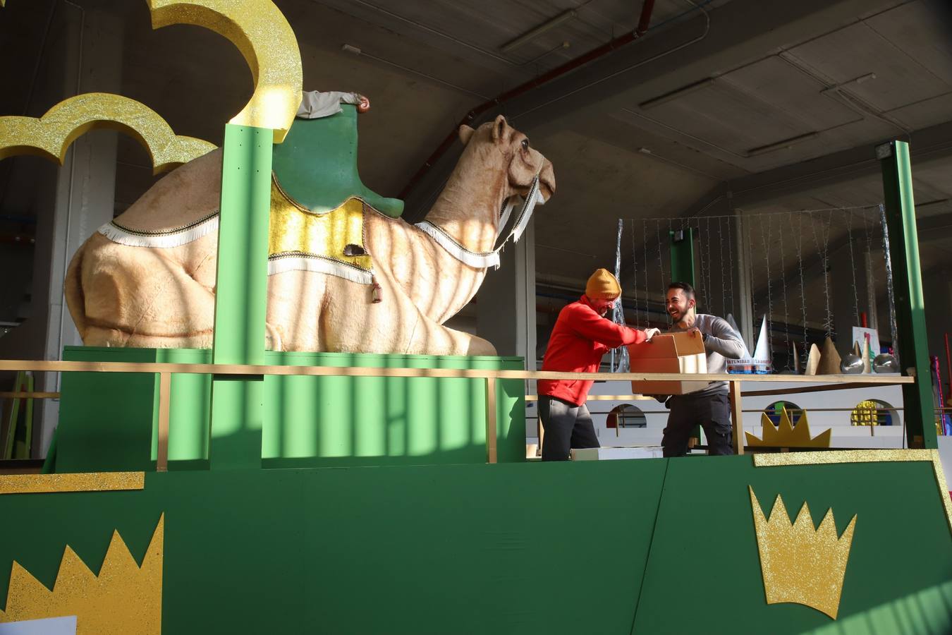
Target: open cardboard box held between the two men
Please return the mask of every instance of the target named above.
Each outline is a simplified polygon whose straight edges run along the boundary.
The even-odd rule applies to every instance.
[[[665,333],[650,342],[628,347],[631,372],[707,372],[701,333]],[[707,387],[707,382],[631,382],[631,392],[643,395],[683,395]]]

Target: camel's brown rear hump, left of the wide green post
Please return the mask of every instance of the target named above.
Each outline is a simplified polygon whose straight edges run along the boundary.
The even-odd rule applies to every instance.
[[[187,227],[218,211],[222,191],[222,150],[173,169],[114,222],[135,231]]]

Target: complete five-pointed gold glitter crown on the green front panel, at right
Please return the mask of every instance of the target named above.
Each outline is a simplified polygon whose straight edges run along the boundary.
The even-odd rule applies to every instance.
[[[814,529],[810,509],[804,502],[797,520],[791,524],[778,494],[768,521],[754,488],[749,489],[767,604],[806,605],[835,620],[856,516],[837,538],[833,509],[826,511],[820,528]]]

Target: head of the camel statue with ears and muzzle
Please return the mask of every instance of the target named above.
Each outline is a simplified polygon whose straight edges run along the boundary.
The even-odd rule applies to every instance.
[[[555,172],[552,169],[552,163],[539,150],[532,147],[525,134],[509,126],[503,115],[497,116],[495,121],[487,122],[478,129],[461,126],[460,140],[466,145],[467,150],[478,149],[486,152],[496,161],[502,154],[503,162],[508,166],[503,191],[504,199],[513,194],[526,196],[536,174],[539,175],[539,191],[544,201],[547,201],[555,192]]]

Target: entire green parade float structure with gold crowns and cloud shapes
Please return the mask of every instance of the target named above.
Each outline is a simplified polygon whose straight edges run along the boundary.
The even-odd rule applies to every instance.
[[[358,200],[394,219],[402,203],[360,181],[359,106],[291,127],[296,41],[271,2],[245,4],[149,2],[156,28],[228,37],[256,80],[221,150],[211,347],[0,362],[64,371],[46,473],[0,476],[0,632],[29,621],[82,634],[952,627],[952,506],[906,144],[878,153],[914,372],[850,381],[902,383],[913,449],[527,463],[524,382],[546,375],[519,358],[266,348],[273,184],[315,216]],[[142,116],[124,113],[142,111],[124,98],[73,100],[41,120],[0,118],[0,158],[61,160],[96,126],[137,136],[157,170],[211,149],[158,123],[136,129]],[[365,304],[392,300],[375,285]]]

